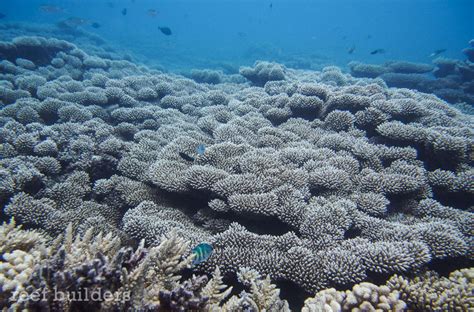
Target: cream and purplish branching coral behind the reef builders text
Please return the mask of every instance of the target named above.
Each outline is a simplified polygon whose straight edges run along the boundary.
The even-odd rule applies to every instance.
[[[54,241],[42,234],[0,226],[0,308],[27,310],[125,311],[289,311],[279,289],[256,271],[242,269],[239,281],[247,291],[231,295],[219,269],[207,276],[182,279],[194,255],[176,232],[162,236],[157,247],[143,241],[120,248],[111,234],[93,237],[93,229],[75,238],[72,226]],[[221,307],[222,306],[222,307]]]

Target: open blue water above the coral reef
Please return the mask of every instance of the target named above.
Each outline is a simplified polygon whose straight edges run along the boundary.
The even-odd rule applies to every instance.
[[[45,4],[64,12],[38,9]],[[98,22],[99,29],[83,28],[170,69],[257,59],[339,66],[351,60],[429,63],[436,49],[463,59],[461,50],[474,37],[472,0],[3,0],[0,12],[7,15],[0,22],[52,24],[73,16]],[[163,35],[158,26],[173,34]],[[386,53],[370,54],[379,48]]]

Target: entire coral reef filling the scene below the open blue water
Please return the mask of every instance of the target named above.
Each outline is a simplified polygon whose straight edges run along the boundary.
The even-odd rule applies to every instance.
[[[4,311],[474,309],[473,117],[396,88],[431,67],[95,52],[0,43]]]

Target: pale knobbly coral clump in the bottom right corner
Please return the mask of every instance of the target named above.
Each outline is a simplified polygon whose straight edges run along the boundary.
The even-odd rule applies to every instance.
[[[431,271],[412,279],[394,275],[382,286],[364,282],[352,290],[320,291],[306,299],[302,312],[470,311],[473,287],[473,268],[451,272],[449,278]]]

